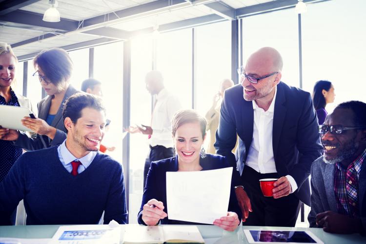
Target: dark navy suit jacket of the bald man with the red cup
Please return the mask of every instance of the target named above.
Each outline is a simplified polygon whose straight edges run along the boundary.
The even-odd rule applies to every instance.
[[[226,156],[240,174],[253,139],[254,110],[252,102],[244,100],[243,87],[235,85],[225,91],[221,106],[220,124],[216,133],[217,153]],[[239,135],[237,159],[231,150]],[[318,119],[311,96],[299,88],[280,82],[273,116],[273,154],[277,173],[292,176],[298,189],[295,195],[310,205],[311,163],[321,156],[322,146],[318,133]],[[237,174],[237,183],[239,174]]]

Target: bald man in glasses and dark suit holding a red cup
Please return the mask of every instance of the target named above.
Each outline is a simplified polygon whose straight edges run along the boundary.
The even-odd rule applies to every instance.
[[[274,48],[253,53],[221,107],[215,147],[241,175],[233,180],[246,225],[295,226],[300,201],[310,205],[310,166],[322,151],[318,120],[310,94],[281,82],[282,66]],[[265,178],[278,179],[273,197],[261,192]]]

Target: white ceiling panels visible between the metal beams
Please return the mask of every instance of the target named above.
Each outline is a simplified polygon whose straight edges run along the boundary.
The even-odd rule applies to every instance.
[[[123,9],[128,9],[155,0],[58,0],[57,9],[61,18],[69,20],[86,20],[96,16],[103,16],[106,13],[112,13]],[[192,18],[202,17],[215,14],[211,8],[202,4],[205,2],[213,2],[217,0],[196,0],[195,4],[182,3],[177,8],[161,9],[152,12],[134,15],[131,18],[121,17],[116,22],[108,23],[106,26],[131,32],[145,28],[151,28],[155,25],[188,20]],[[227,6],[238,9],[250,5],[256,5],[273,0],[221,0]],[[181,7],[183,6],[183,7]],[[49,8],[48,0],[40,0],[36,3],[20,8],[33,13],[43,14]],[[10,27],[11,25],[12,27]],[[14,27],[15,26],[15,27]],[[24,27],[21,24],[12,24],[9,22],[0,23],[0,41],[10,44],[19,43],[21,41],[30,40],[32,38],[42,39],[43,35],[54,32],[56,29],[37,27],[38,30]],[[41,38],[40,38],[41,36]],[[71,33],[70,35],[58,35],[50,39],[42,41],[34,41],[15,47],[14,50],[18,56],[39,52],[44,48],[62,47],[83,41],[99,39],[101,36],[92,36],[82,34],[80,31]]]

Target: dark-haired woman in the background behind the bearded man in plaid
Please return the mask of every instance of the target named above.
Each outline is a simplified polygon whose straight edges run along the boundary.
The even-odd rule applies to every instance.
[[[328,103],[334,102],[335,93],[334,86],[330,81],[317,81],[314,85],[313,103],[318,116],[319,124],[323,124],[325,117],[328,114],[325,106]]]

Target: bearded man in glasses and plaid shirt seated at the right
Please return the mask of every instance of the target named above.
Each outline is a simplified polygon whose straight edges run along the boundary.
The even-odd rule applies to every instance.
[[[365,234],[365,111],[364,102],[344,102],[319,126],[324,155],[311,166],[310,227]]]

